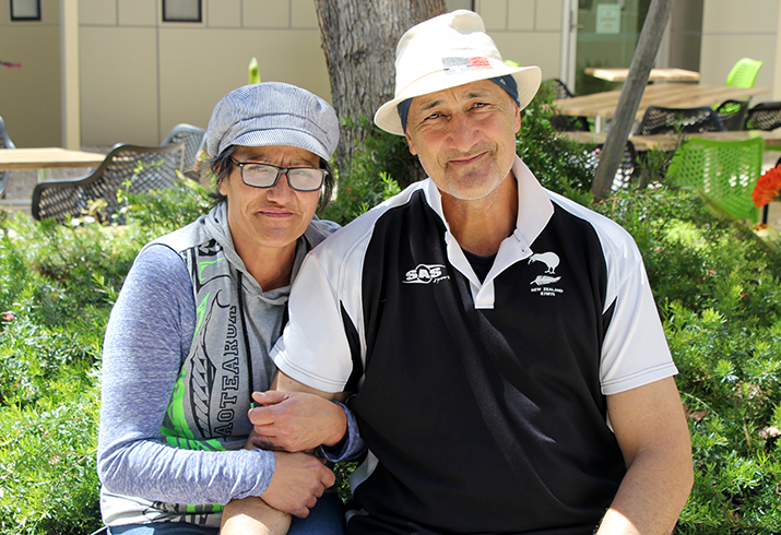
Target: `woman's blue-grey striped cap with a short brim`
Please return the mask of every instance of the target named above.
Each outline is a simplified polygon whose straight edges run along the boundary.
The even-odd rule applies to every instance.
[[[328,162],[336,143],[339,119],[330,104],[295,85],[263,82],[234,90],[214,106],[203,146],[216,157],[230,145],[289,145]]]

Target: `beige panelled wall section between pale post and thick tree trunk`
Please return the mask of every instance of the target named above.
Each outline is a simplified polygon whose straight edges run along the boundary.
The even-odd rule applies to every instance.
[[[161,0],[80,0],[82,143],[156,144],[205,127],[247,83],[284,81],[330,98],[311,0],[204,0],[203,22],[163,23]],[[107,120],[108,118],[108,120]]]

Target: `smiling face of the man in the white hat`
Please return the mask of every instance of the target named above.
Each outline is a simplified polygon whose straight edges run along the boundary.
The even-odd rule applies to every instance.
[[[508,177],[520,128],[512,98],[482,80],[413,98],[405,135],[439,190],[471,201]]]

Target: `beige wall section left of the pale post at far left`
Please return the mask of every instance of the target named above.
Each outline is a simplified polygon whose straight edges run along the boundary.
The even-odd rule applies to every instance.
[[[60,144],[60,13],[57,0],[40,1],[42,20],[11,22],[0,0],[0,116],[16,146]]]

